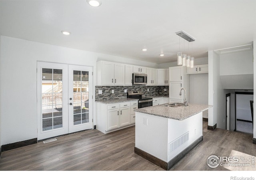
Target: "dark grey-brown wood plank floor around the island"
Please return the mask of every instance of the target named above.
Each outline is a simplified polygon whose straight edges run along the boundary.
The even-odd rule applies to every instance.
[[[252,135],[218,128],[207,130],[207,122],[203,122],[203,135],[204,140],[171,170],[256,170],[252,167],[221,166],[213,169],[206,164],[210,155],[255,156],[256,144],[252,144]],[[54,142],[38,142],[2,152],[0,170],[163,170],[134,154],[134,145],[135,126],[109,134],[86,130],[58,137]]]

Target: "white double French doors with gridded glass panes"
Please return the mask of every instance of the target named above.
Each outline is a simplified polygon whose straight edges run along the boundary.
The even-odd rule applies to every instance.
[[[92,128],[92,67],[38,62],[38,140]]]

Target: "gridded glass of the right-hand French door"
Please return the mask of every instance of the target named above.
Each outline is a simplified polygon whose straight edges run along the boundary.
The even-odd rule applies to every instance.
[[[89,72],[74,70],[73,78],[74,114],[77,114],[74,115],[74,125],[77,125],[89,122]]]

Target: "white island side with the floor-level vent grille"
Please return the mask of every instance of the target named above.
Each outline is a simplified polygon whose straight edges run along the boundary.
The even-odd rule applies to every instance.
[[[181,121],[168,119],[168,162],[203,135],[202,123],[202,112]]]

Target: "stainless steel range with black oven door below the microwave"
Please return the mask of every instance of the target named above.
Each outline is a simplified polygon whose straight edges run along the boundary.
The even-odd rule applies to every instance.
[[[127,98],[138,99],[138,108],[153,106],[153,98],[142,97],[141,91],[127,91]]]

